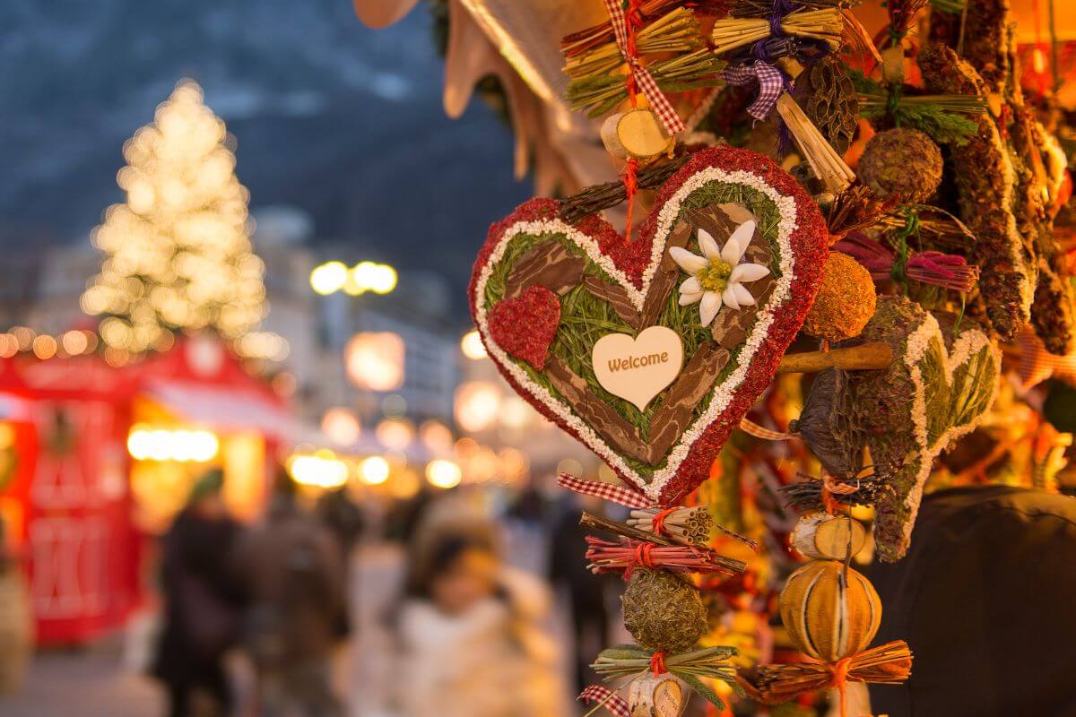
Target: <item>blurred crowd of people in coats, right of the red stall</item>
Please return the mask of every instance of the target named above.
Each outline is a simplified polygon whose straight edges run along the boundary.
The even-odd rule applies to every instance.
[[[570,689],[592,680],[587,663],[609,643],[612,612],[582,558],[578,499],[528,490],[491,512],[457,490],[394,506],[377,531],[405,556],[377,618],[391,636],[391,654],[378,656],[392,663],[391,684],[380,686],[383,705],[356,713],[334,691],[332,661],[349,637],[362,644],[349,565],[367,516],[343,491],[300,500],[281,474],[264,517],[243,526],[221,488],[221,474],[207,473],[162,540],[151,669],[172,717],[574,714]],[[560,631],[554,592],[570,610]],[[255,675],[242,700],[228,668],[237,653]]]

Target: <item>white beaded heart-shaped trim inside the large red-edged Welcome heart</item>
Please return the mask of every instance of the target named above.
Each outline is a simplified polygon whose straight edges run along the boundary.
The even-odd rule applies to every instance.
[[[688,198],[688,196],[710,182],[747,185],[752,189],[761,191],[774,202],[777,207],[778,216],[780,217],[777,226],[777,245],[780,249],[778,266],[780,267],[781,275],[776,279],[774,291],[770,293],[769,299],[766,301],[765,305],[761,306],[758,311],[758,318],[754,327],[745,341],[744,347],[740,349],[736,370],[733,371],[733,373],[730,374],[723,383],[714,387],[706,412],[700,415],[680,436],[680,440],[668,455],[665,468],[654,471],[651,481],[647,483],[641,476],[636,474],[631,467],[627,465],[624,459],[617,451],[605,443],[601,436],[599,436],[594,429],[576,416],[566,403],[554,398],[544,387],[530,381],[526,371],[516,364],[508,356],[508,354],[501,349],[495,341],[493,341],[493,338],[490,335],[484,302],[485,286],[490,281],[490,276],[493,274],[494,264],[496,264],[501,257],[504,257],[508,244],[516,235],[560,233],[564,234],[568,241],[582,248],[592,261],[598,264],[603,271],[608,273],[609,276],[620,284],[622,288],[627,291],[627,295],[636,309],[641,311],[643,301],[646,300],[647,290],[650,288],[650,283],[654,277],[654,273],[657,271],[657,266],[661,263],[662,256],[665,252],[665,243],[668,239],[669,232],[671,231],[672,223],[680,213],[680,206],[683,204],[683,201]],[[691,448],[691,445],[732,402],[735,390],[744,383],[744,378],[747,376],[748,367],[750,367],[751,360],[754,358],[755,353],[759,350],[759,347],[762,345],[767,332],[769,331],[770,325],[774,322],[774,312],[777,307],[784,305],[791,297],[795,261],[792,256],[790,238],[796,228],[796,203],[792,197],[780,193],[776,188],[766,184],[762,177],[751,172],[744,170],[728,172],[717,167],[707,167],[689,177],[688,181],[684,182],[679,189],[677,189],[676,193],[662,206],[657,215],[657,226],[654,232],[654,241],[651,246],[650,262],[647,264],[647,268],[642,273],[642,289],[640,290],[636,289],[635,286],[627,279],[627,276],[622,271],[617,269],[612,259],[601,254],[596,241],[583,234],[570,225],[561,221],[560,219],[520,221],[505,230],[500,236],[500,241],[497,242],[489,259],[486,259],[483,264],[482,270],[479,272],[479,277],[475,285],[473,297],[478,329],[485,342],[486,349],[493,355],[494,358],[496,358],[500,365],[508,371],[508,373],[520,386],[524,387],[535,399],[549,408],[550,412],[569,426],[580,436],[583,443],[596,453],[599,458],[601,458],[622,476],[626,476],[649,498],[656,501],[661,497],[662,488],[674,475],[676,475],[680,463],[688,457],[688,451]]]

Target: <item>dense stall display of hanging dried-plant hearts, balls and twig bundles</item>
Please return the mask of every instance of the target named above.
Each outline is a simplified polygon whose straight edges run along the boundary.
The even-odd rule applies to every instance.
[[[912,668],[861,561],[935,487],[1059,489],[1076,131],[1023,96],[1005,0],[869,30],[836,0],[591,4],[549,101],[620,178],[494,224],[468,288],[508,384],[618,478],[558,483],[628,508],[581,518],[634,643],[580,699],[844,717]]]

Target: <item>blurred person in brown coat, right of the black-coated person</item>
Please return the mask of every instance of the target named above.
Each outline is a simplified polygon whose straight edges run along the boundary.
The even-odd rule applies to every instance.
[[[344,623],[346,563],[331,530],[297,502],[283,472],[264,522],[236,550],[250,597],[244,644],[257,672],[261,717],[335,717],[331,656]]]

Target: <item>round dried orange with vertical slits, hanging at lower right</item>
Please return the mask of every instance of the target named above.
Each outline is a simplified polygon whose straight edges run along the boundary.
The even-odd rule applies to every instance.
[[[836,560],[812,560],[781,590],[781,620],[803,653],[836,662],[863,650],[881,622],[881,601],[863,575]]]

